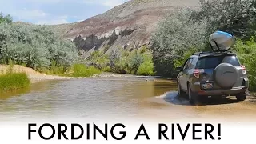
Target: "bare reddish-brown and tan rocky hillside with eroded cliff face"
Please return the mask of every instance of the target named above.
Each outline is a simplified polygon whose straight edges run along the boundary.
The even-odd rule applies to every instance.
[[[134,49],[150,42],[158,22],[174,8],[199,6],[199,0],[132,0],[69,26],[64,38],[71,39],[78,50],[102,47]]]

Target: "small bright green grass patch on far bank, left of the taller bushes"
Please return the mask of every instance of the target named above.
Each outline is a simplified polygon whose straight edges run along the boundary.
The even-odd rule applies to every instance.
[[[94,66],[86,66],[83,64],[74,64],[72,66],[73,73],[70,76],[73,77],[90,77],[94,74],[100,74],[101,70],[98,70]]]

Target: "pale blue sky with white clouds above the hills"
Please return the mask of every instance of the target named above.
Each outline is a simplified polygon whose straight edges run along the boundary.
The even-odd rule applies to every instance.
[[[0,12],[14,22],[54,25],[79,22],[128,0],[0,0]]]

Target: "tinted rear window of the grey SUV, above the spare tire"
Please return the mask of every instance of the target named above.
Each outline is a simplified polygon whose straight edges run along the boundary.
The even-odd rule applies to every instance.
[[[235,55],[222,55],[200,58],[197,63],[198,69],[214,69],[220,63],[230,63],[233,66],[240,66]]]

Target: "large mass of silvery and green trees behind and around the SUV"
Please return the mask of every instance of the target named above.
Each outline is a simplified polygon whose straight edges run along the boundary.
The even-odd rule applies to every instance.
[[[215,30],[229,32],[238,39],[231,50],[238,53],[242,65],[247,67],[250,90],[256,90],[254,0],[202,0],[200,10],[182,9],[170,14],[152,37],[157,74],[175,77],[175,67],[182,66],[190,54],[210,50],[208,38]]]

